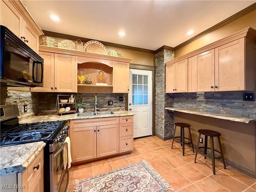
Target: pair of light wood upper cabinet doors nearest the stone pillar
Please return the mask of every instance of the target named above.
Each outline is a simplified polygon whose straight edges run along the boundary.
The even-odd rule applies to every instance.
[[[188,92],[188,59],[166,63],[166,93]]]

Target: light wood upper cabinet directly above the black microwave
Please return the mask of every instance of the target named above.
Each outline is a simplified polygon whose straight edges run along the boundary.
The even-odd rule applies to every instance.
[[[0,21],[38,53],[39,36],[44,33],[21,1],[0,1]]]

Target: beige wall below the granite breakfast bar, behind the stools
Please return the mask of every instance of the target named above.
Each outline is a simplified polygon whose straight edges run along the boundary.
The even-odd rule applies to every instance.
[[[197,145],[199,129],[220,132],[226,162],[231,162],[233,166],[239,166],[256,177],[256,123],[245,124],[180,112],[174,112],[174,122],[184,122],[191,125],[190,130],[194,145]],[[186,134],[188,132],[185,132],[185,136]],[[178,134],[176,133],[176,135]],[[204,138],[204,136],[202,137]],[[214,140],[214,148],[218,150],[218,140]]]

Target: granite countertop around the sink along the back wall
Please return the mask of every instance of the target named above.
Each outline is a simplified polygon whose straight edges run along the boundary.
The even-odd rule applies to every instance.
[[[40,115],[32,116],[28,118],[20,118],[19,123],[34,123],[43,121],[56,121],[56,120],[75,120],[75,119],[93,119],[93,118],[104,118],[104,117],[120,117],[120,116],[132,116],[134,113],[130,111],[113,111],[114,114],[110,115],[94,115],[94,116],[77,116],[75,114],[67,115]]]

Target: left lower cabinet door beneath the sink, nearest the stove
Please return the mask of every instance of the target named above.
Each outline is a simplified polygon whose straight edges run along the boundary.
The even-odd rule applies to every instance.
[[[70,146],[72,162],[96,158],[96,126],[71,128]]]

